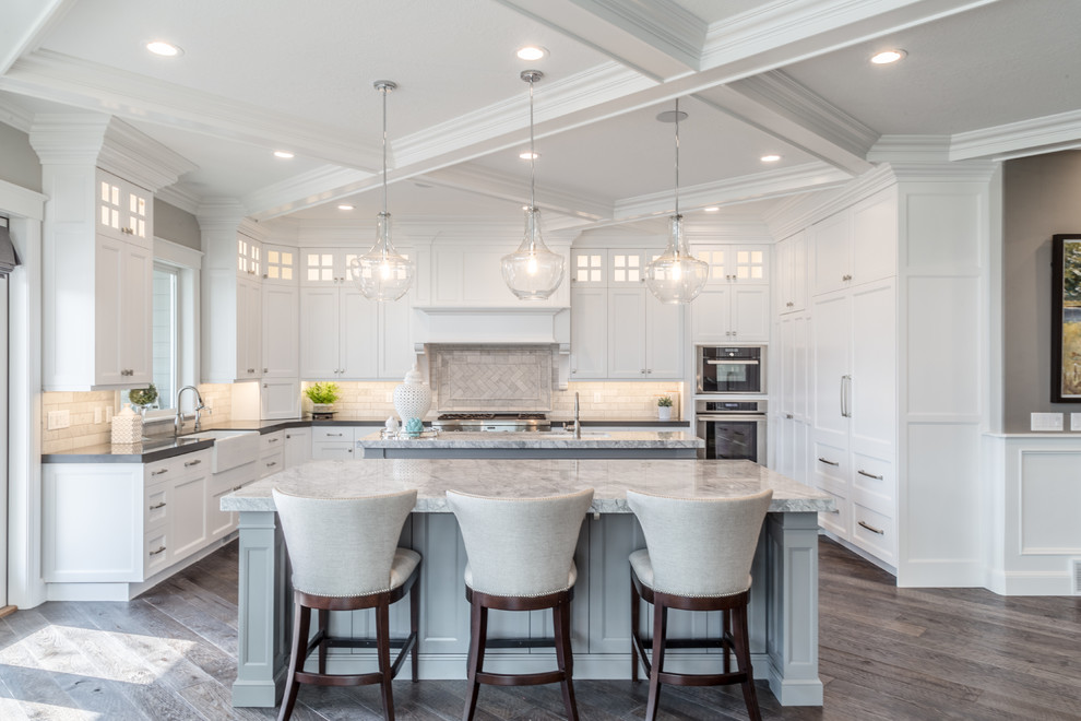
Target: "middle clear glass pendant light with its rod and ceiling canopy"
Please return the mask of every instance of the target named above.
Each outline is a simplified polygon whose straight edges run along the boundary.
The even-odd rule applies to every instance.
[[[540,237],[540,209],[535,200],[537,154],[533,150],[533,83],[544,78],[539,70],[525,70],[530,84],[530,205],[525,209],[525,237],[514,252],[503,256],[503,282],[521,300],[544,300],[563,280],[563,257],[551,252]]]

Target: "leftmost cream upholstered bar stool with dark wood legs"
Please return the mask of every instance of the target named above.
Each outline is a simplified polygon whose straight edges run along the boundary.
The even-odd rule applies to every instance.
[[[413,681],[417,679],[417,626],[420,616],[420,554],[399,548],[397,540],[416,490],[360,498],[310,498],[274,489],[274,504],[293,564],[293,653],[285,698],[278,721],[293,714],[300,684],[360,686],[379,684],[383,716],[394,719],[391,681],[412,651]],[[409,593],[412,591],[412,593]],[[391,640],[390,605],[409,593],[411,630],[407,638]],[[309,639],[311,610],[319,611],[319,629]],[[366,674],[328,674],[328,648],[370,648],[368,639],[331,638],[326,633],[331,611],[376,610],[376,657],[379,671]],[[391,664],[391,646],[401,646]],[[319,672],[304,670],[318,648]]]

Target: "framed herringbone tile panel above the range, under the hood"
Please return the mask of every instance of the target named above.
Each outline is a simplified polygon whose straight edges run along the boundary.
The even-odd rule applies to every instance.
[[[554,366],[548,346],[443,345],[430,355],[439,411],[548,411]]]

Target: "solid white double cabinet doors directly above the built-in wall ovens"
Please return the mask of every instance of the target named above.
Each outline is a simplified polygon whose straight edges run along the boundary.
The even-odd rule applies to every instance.
[[[765,343],[770,340],[770,287],[706,285],[690,304],[693,343]]]

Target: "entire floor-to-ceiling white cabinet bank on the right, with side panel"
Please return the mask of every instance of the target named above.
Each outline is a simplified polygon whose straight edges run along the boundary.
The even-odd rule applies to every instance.
[[[831,494],[821,527],[899,586],[983,584],[972,459],[995,177],[982,162],[880,166],[781,234],[777,262],[807,274],[787,283],[806,298],[777,297],[774,464]]]

